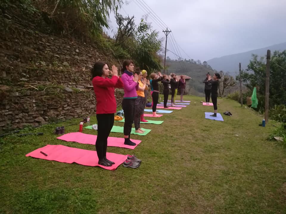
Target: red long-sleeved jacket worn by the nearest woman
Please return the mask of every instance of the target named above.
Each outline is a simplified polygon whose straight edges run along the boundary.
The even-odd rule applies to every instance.
[[[116,112],[116,100],[114,88],[123,88],[120,77],[102,78],[96,76],[92,80],[94,93],[96,96],[96,114],[112,114]]]

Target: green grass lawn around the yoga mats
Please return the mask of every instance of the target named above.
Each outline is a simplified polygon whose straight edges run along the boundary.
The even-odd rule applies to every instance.
[[[286,150],[266,140],[279,123],[260,127],[261,116],[226,99],[218,100],[218,112],[231,111],[232,117],[204,119],[213,107],[202,106],[201,97],[184,99],[191,104],[152,118],[163,124],[142,124],[152,129],[147,136],[131,135],[142,140],[135,150],[108,147],[135,152],[142,159],[137,169],[121,165],[109,171],[25,157],[46,144],[95,150],[57,140],[55,126],[68,123],[24,130],[43,136],[1,138],[0,213],[286,213]]]

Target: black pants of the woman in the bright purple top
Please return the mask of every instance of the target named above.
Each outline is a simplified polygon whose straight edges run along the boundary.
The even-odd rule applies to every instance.
[[[135,100],[136,99],[123,99],[122,101],[122,109],[124,111],[124,117],[125,117],[123,132],[124,132],[124,135],[126,136],[130,135],[132,124],[134,122]]]

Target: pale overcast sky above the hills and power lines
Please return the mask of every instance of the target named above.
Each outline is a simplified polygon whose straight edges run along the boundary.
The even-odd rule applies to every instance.
[[[144,3],[154,12],[149,8],[146,12],[140,6]],[[148,15],[147,22],[160,32],[160,38],[165,37],[162,30],[167,25],[186,54],[203,62],[286,42],[285,9],[286,0],[124,0],[119,13],[134,15],[136,24]],[[149,11],[166,25],[157,24]],[[116,27],[111,14],[110,28],[116,31]],[[181,48],[179,55],[189,59]],[[174,51],[169,43],[167,49]],[[170,52],[167,56],[178,58]]]

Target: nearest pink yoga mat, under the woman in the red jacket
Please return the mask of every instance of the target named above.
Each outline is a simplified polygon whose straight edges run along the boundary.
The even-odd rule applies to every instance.
[[[41,152],[44,152],[48,156],[45,156]],[[106,158],[113,161],[115,164],[112,166],[102,166],[98,164],[96,151],[72,148],[63,145],[46,145],[30,152],[26,156],[62,163],[78,163],[84,166],[100,166],[101,168],[108,170],[115,170],[127,159],[127,155],[107,152]]]

